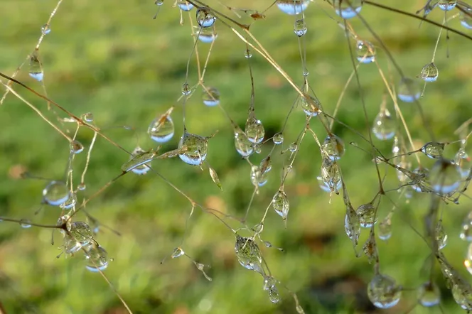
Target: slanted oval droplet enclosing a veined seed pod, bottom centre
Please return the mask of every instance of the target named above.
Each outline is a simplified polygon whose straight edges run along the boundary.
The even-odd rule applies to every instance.
[[[240,237],[236,235],[235,253],[237,261],[240,262],[241,266],[245,269],[257,271],[260,274],[264,274],[262,270],[262,254],[257,247],[257,244],[250,238]]]

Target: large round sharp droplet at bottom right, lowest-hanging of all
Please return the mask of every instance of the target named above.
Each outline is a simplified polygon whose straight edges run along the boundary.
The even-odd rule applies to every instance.
[[[394,278],[377,274],[370,281],[367,294],[377,308],[392,308],[400,301],[402,287],[397,286]]]

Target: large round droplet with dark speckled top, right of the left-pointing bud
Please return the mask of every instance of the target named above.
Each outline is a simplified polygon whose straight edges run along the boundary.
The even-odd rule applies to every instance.
[[[178,156],[184,163],[199,166],[207,156],[208,140],[205,137],[184,132],[181,141],[178,142],[178,148],[186,147],[185,153],[179,153]]]

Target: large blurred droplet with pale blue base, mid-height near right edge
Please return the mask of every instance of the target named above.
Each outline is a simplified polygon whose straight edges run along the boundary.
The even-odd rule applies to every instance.
[[[461,182],[461,171],[452,161],[441,158],[431,167],[429,181],[436,193],[454,193]]]

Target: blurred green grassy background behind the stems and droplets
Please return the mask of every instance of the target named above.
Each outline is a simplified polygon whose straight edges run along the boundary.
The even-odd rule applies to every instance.
[[[414,12],[424,1],[381,1],[397,9]],[[227,6],[263,11],[270,1],[224,1]],[[36,45],[41,26],[47,21],[55,0],[3,0],[0,13],[0,70],[14,72]],[[236,18],[217,1],[216,9]],[[139,144],[144,149],[156,144],[148,138],[146,129],[154,117],[176,104],[173,120],[176,135],[163,151],[176,148],[181,136],[182,109],[176,99],[185,82],[186,63],[193,47],[191,26],[184,14],[184,25],[179,25],[178,9],[168,0],[161,7],[156,20],[152,19],[156,6],[152,0],[90,1],[64,0],[51,23],[51,33],[41,45],[40,58],[45,71],[48,95],[76,115],[92,112],[102,128],[133,126],[136,132],[123,128],[104,131],[128,151]],[[439,29],[419,21],[365,5],[363,16],[384,40],[406,75],[414,77],[431,60]],[[195,9],[191,11],[194,18]],[[267,11],[267,18],[254,23],[252,32],[281,67],[301,84],[301,63],[294,17],[281,13],[277,6]],[[352,65],[343,31],[331,17],[333,12],[323,1],[311,3],[306,10],[306,55],[309,82],[328,113],[332,113],[338,96],[347,80]],[[431,18],[441,21],[442,11],[434,11]],[[245,20],[249,21],[249,20]],[[379,45],[360,21],[352,21],[355,31],[363,38]],[[461,31],[457,18],[450,25]],[[205,84],[218,87],[222,107],[241,127],[247,118],[250,103],[250,76],[245,45],[220,21],[216,24],[218,39],[211,54]],[[470,31],[468,31],[470,33]],[[470,75],[472,72],[472,43],[451,34],[450,58],[446,58],[446,43],[442,38],[436,56],[439,67],[438,82],[431,83],[422,99],[425,116],[431,122],[436,139],[454,141],[455,129],[471,117]],[[198,44],[200,58],[208,45]],[[392,78],[399,80],[393,68],[389,70],[384,52],[378,52],[380,65]],[[262,120],[266,136],[280,131],[296,92],[267,63],[254,53],[251,60],[254,73],[255,107]],[[378,112],[385,90],[375,65],[363,65],[360,81],[372,123]],[[27,66],[18,75],[26,85],[40,91],[41,85],[28,77]],[[5,81],[4,81],[5,82]],[[189,83],[197,82],[195,56],[190,63]],[[50,119],[46,103],[15,86],[23,97],[35,104]],[[152,166],[178,188],[203,205],[215,207],[230,215],[242,217],[252,195],[250,167],[234,149],[232,129],[217,107],[205,107],[200,90],[187,103],[188,131],[209,136],[208,162],[220,176],[223,192],[211,182],[210,176],[198,167],[189,166],[179,158],[154,161]],[[360,93],[355,81],[343,99],[338,119],[367,136],[368,128],[362,111]],[[392,101],[387,102],[392,110]],[[420,145],[430,141],[422,119],[413,104],[400,104],[409,130]],[[296,139],[304,128],[304,114],[297,108],[291,115],[284,148]],[[63,178],[68,163],[68,142],[42,121],[16,97],[9,97],[0,108],[0,215],[33,222],[54,224],[59,210],[41,206],[43,180],[21,180],[18,173],[26,169],[45,178]],[[326,136],[318,121],[313,130],[323,139]],[[73,124],[66,125],[74,130]],[[377,175],[368,154],[349,146],[355,141],[363,148],[368,144],[353,132],[335,124],[334,133],[347,145],[340,160],[345,183],[353,205],[372,200],[377,193]],[[136,134],[139,140],[136,140]],[[92,132],[81,128],[77,136],[85,146],[90,144]],[[390,156],[391,141],[375,140],[376,146]],[[251,161],[258,163],[267,156],[272,143]],[[451,158],[456,146],[446,148]],[[249,224],[256,224],[269,205],[280,183],[281,165],[287,154],[274,152],[274,168],[269,183],[264,186],[251,207]],[[344,232],[345,207],[341,197],[330,196],[318,187],[321,156],[312,136],[301,144],[293,173],[285,184],[290,200],[287,228],[272,209],[264,228],[264,239],[277,249],[262,248],[264,258],[280,281],[295,291],[306,313],[380,313],[368,301],[366,284],[372,278],[372,266],[365,256],[356,259],[350,240]],[[87,190],[77,194],[79,202],[120,173],[122,163],[129,156],[103,139],[97,139],[86,176]],[[414,158],[412,158],[414,161]],[[424,165],[431,165],[422,156]],[[75,184],[85,165],[85,153],[75,158]],[[384,169],[381,169],[384,171]],[[397,187],[395,171],[387,170],[386,189]],[[397,192],[390,193],[397,200]],[[398,213],[393,218],[393,235],[380,242],[380,264],[383,273],[393,276],[407,288],[402,301],[385,313],[404,313],[416,302],[414,288],[427,281],[424,261],[429,249],[417,236],[411,224],[422,232],[422,215],[427,210],[428,195],[414,195],[409,204],[399,200]],[[463,197],[461,205],[442,205],[444,226],[449,234],[446,256],[468,278],[462,266],[467,244],[458,239],[460,224],[470,210],[470,201]],[[392,205],[387,200],[380,205],[380,217],[385,217]],[[129,173],[117,180],[99,197],[87,204],[87,210],[100,222],[119,230],[121,237],[102,229],[97,241],[114,258],[104,273],[127,301],[133,313],[295,313],[294,301],[282,288],[281,302],[269,302],[262,289],[262,277],[242,268],[235,258],[235,237],[210,215],[195,210],[191,218],[183,249],[193,259],[211,265],[206,281],[193,263],[181,257],[160,261],[171,254],[183,237],[189,202],[176,193],[154,173],[144,176]],[[80,220],[85,217],[80,215]],[[232,224],[233,227],[238,227]],[[364,229],[362,245],[368,235]],[[100,274],[85,269],[83,254],[55,259],[60,252],[60,236],[50,245],[50,229],[21,229],[18,224],[2,222],[0,228],[0,302],[6,313],[126,313],[117,296]],[[434,270],[443,293],[444,313],[461,313],[450,292],[445,288],[439,269]],[[409,290],[408,290],[409,289]],[[422,309],[412,313],[439,313],[439,309]]]

